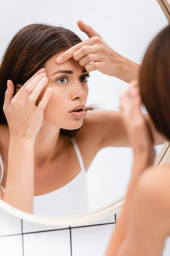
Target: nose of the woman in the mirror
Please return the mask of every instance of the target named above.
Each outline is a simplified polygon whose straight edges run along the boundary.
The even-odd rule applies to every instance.
[[[71,86],[71,96],[72,99],[85,99],[88,93],[88,85],[83,84],[80,81],[75,81],[74,84]]]

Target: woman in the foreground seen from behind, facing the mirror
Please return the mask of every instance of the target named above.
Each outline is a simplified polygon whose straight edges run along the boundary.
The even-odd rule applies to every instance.
[[[153,139],[140,111],[142,102],[156,129],[170,141],[169,67],[170,25],[149,45],[139,85],[132,82],[121,96],[134,163],[127,199],[105,256],[160,256],[170,236],[170,164],[152,166]]]

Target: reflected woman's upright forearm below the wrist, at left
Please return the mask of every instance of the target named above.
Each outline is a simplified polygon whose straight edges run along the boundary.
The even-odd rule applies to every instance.
[[[34,143],[10,139],[3,201],[30,214],[34,209]]]

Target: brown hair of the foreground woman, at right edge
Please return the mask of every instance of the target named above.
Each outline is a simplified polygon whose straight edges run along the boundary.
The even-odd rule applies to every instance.
[[[139,90],[155,128],[170,140],[170,25],[156,35],[145,52]]]

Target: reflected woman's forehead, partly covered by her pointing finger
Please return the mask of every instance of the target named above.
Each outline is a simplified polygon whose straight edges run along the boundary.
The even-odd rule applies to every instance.
[[[67,61],[65,61],[62,64],[58,64],[56,62],[57,57],[62,53],[65,52],[61,51],[58,52],[57,54],[55,54],[54,56],[52,56],[46,63],[45,63],[45,69],[48,73],[48,75],[51,75],[52,73],[54,73],[57,70],[74,70],[75,72],[82,72],[83,68],[85,68],[85,66],[81,66],[79,64],[79,61],[75,61],[74,58],[70,58]]]

